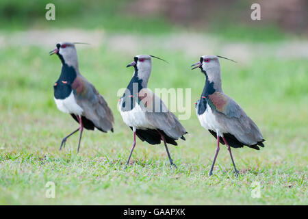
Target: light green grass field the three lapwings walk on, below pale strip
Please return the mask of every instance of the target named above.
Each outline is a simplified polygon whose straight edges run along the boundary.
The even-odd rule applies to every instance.
[[[81,47],[79,47],[81,48]],[[225,146],[208,177],[216,141],[199,125],[192,109],[182,120],[189,135],[170,146],[178,169],[170,168],[163,145],[140,140],[124,169],[132,133],[116,110],[118,88],[132,75],[125,68],[133,55],[107,46],[79,49],[81,73],[94,83],[112,108],[114,133],[84,131],[77,155],[77,127],[53,103],[53,83],[60,60],[39,47],[4,47],[0,53],[0,204],[235,204],[307,205],[307,60],[256,57],[246,64],[221,61],[224,92],[255,120],[266,147],[233,149],[241,174],[236,178]],[[191,106],[203,89],[204,77],[182,53],[145,51],[155,60],[150,88],[192,88]],[[46,198],[45,184],[55,182],[55,198]],[[251,197],[251,184],[261,183],[261,198]]]

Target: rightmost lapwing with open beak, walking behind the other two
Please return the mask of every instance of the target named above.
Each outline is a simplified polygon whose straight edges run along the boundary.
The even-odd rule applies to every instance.
[[[233,148],[248,146],[259,150],[259,146],[264,147],[262,143],[264,138],[242,107],[222,91],[218,57],[222,56],[203,55],[200,62],[192,65],[192,69],[201,68],[201,73],[205,75],[205,86],[201,98],[196,102],[196,114],[201,125],[217,139],[216,154],[209,175],[213,173],[221,143],[227,145],[235,175],[238,176],[239,172],[235,167],[230,146]]]

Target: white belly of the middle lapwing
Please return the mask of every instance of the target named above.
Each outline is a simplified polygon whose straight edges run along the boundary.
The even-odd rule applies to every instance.
[[[119,110],[120,105],[122,105],[122,101],[119,103]],[[133,110],[130,111],[121,111],[120,114],[123,118],[123,121],[126,125],[129,127],[133,127],[136,129],[155,129],[153,125],[149,123],[149,121],[146,119],[145,112],[142,110],[140,105],[138,103],[135,104],[135,107],[133,107]]]

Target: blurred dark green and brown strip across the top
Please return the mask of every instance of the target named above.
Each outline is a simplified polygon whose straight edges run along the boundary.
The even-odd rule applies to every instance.
[[[56,21],[44,18],[47,3],[54,3]],[[251,5],[261,5],[261,20],[251,20]],[[279,40],[308,34],[305,0],[118,0],[0,2],[3,29],[82,28],[164,34],[174,31],[214,33],[229,40]]]

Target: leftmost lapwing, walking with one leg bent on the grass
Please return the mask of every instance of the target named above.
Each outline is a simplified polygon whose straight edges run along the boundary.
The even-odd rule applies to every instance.
[[[59,42],[56,47],[49,53],[57,54],[62,62],[61,75],[53,86],[55,103],[60,111],[70,114],[79,123],[78,129],[63,138],[60,150],[62,146],[65,147],[68,137],[80,131],[77,149],[79,152],[84,128],[113,131],[114,116],[103,96],[79,73],[75,44]]]

